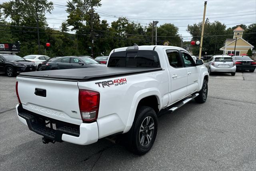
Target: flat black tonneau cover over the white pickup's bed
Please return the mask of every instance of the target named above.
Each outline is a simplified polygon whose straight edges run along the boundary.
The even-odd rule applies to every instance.
[[[160,71],[162,68],[137,68],[137,67],[95,67],[78,68],[68,70],[49,70],[37,72],[23,72],[18,77],[37,78],[44,80],[61,80],[73,82],[86,82],[92,80],[101,80],[118,76],[127,76],[133,74],[142,74],[146,72]]]

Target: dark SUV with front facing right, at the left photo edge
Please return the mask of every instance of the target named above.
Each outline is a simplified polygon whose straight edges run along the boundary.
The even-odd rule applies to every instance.
[[[36,64],[14,54],[0,54],[0,72],[13,77],[20,72],[36,71]]]

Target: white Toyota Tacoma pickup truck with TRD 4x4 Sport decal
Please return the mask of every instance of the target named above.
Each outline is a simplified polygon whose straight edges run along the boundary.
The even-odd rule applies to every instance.
[[[207,98],[209,74],[202,60],[174,46],[112,50],[107,67],[21,73],[19,120],[43,143],[95,143],[124,134],[137,154],[150,150],[157,116]]]

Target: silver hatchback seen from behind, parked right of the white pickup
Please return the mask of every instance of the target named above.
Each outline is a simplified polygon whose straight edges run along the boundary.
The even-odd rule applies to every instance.
[[[231,76],[236,74],[236,63],[231,56],[216,55],[207,60],[206,68],[209,74],[213,72],[227,72]]]

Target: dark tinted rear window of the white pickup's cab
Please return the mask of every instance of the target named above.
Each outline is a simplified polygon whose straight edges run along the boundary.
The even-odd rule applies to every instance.
[[[108,67],[159,68],[160,62],[156,51],[130,50],[112,53],[108,60]]]

